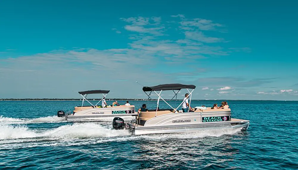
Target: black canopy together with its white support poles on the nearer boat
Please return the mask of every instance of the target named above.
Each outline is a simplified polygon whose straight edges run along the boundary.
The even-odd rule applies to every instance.
[[[179,104],[179,106],[177,107],[177,109],[174,109],[170,104],[168,104],[161,96],[160,94],[162,93],[162,90],[173,90],[173,92],[175,93],[175,95],[173,96],[173,98],[176,96],[176,99],[177,99],[177,94],[179,93],[179,91],[181,89],[186,89],[189,93],[189,96],[190,96],[190,100],[189,100],[189,105],[190,105],[190,102],[191,102],[191,96],[192,96],[192,93],[193,93],[193,90],[195,90],[195,85],[182,85],[182,84],[163,84],[163,85],[157,85],[157,86],[152,86],[152,87],[143,87],[143,91],[145,92],[145,94],[148,96],[148,99],[152,99],[150,97],[150,94],[152,92],[156,93],[156,95],[158,96],[158,99],[157,99],[157,107],[156,107],[156,111],[155,111],[155,117],[157,115],[157,109],[158,109],[158,105],[159,105],[159,100],[162,99],[167,105],[169,105],[173,110],[176,110],[181,106],[181,104],[183,104],[183,102],[186,100],[183,100],[181,104]],[[188,89],[193,89],[191,91],[189,91]],[[174,90],[178,90],[177,92],[175,92]],[[147,94],[146,92],[150,91],[149,94]],[[159,93],[157,93],[156,91],[160,91]],[[173,99],[172,98],[172,99]],[[171,100],[172,100],[171,99]],[[188,107],[188,112],[190,110],[190,107]]]

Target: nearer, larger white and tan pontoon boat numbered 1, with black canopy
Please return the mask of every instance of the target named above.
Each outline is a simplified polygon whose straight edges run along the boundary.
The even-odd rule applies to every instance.
[[[124,124],[121,118],[114,118],[113,127],[115,129],[128,128],[132,134],[164,134],[164,133],[182,133],[199,131],[205,129],[235,129],[240,128],[242,131],[249,127],[249,120],[241,120],[231,118],[231,109],[211,109],[207,107],[206,109],[196,109],[194,112],[182,112],[177,111],[170,104],[167,103],[162,97],[161,93],[163,90],[178,90],[186,89],[189,93],[189,105],[191,104],[191,97],[194,85],[182,85],[182,84],[164,84],[157,85],[153,87],[143,87],[143,91],[149,92],[147,96],[150,98],[152,92],[156,93],[158,96],[157,108],[159,106],[160,99],[163,100],[170,109],[159,110],[149,110],[148,112],[141,112],[136,116],[136,121]],[[191,91],[189,89],[192,89]],[[159,93],[158,93],[159,91]],[[178,92],[175,92],[177,96]],[[172,98],[173,99],[173,98]],[[184,100],[185,101],[185,100]],[[183,102],[181,104],[183,104]],[[176,107],[177,109],[181,104]]]

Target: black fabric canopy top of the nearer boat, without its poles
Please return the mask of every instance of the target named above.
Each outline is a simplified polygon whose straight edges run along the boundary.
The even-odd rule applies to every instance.
[[[181,90],[183,88],[195,89],[195,85],[182,85],[182,84],[164,84],[152,87],[143,87],[143,91],[159,91],[159,90]]]

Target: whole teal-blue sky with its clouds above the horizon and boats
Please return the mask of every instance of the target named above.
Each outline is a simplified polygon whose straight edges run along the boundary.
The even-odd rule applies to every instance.
[[[1,1],[0,98],[76,98],[89,89],[144,98],[139,81],[194,84],[195,99],[297,100],[296,7]]]

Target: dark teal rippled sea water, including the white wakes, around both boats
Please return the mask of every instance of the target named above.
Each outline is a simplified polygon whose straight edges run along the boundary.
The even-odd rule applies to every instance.
[[[130,103],[156,106],[156,101]],[[214,103],[221,101],[191,105]],[[56,116],[80,101],[0,101],[0,169],[298,169],[298,101],[228,103],[232,117],[250,120],[246,132],[134,136],[113,130],[111,122]],[[168,107],[161,102],[160,108]]]

